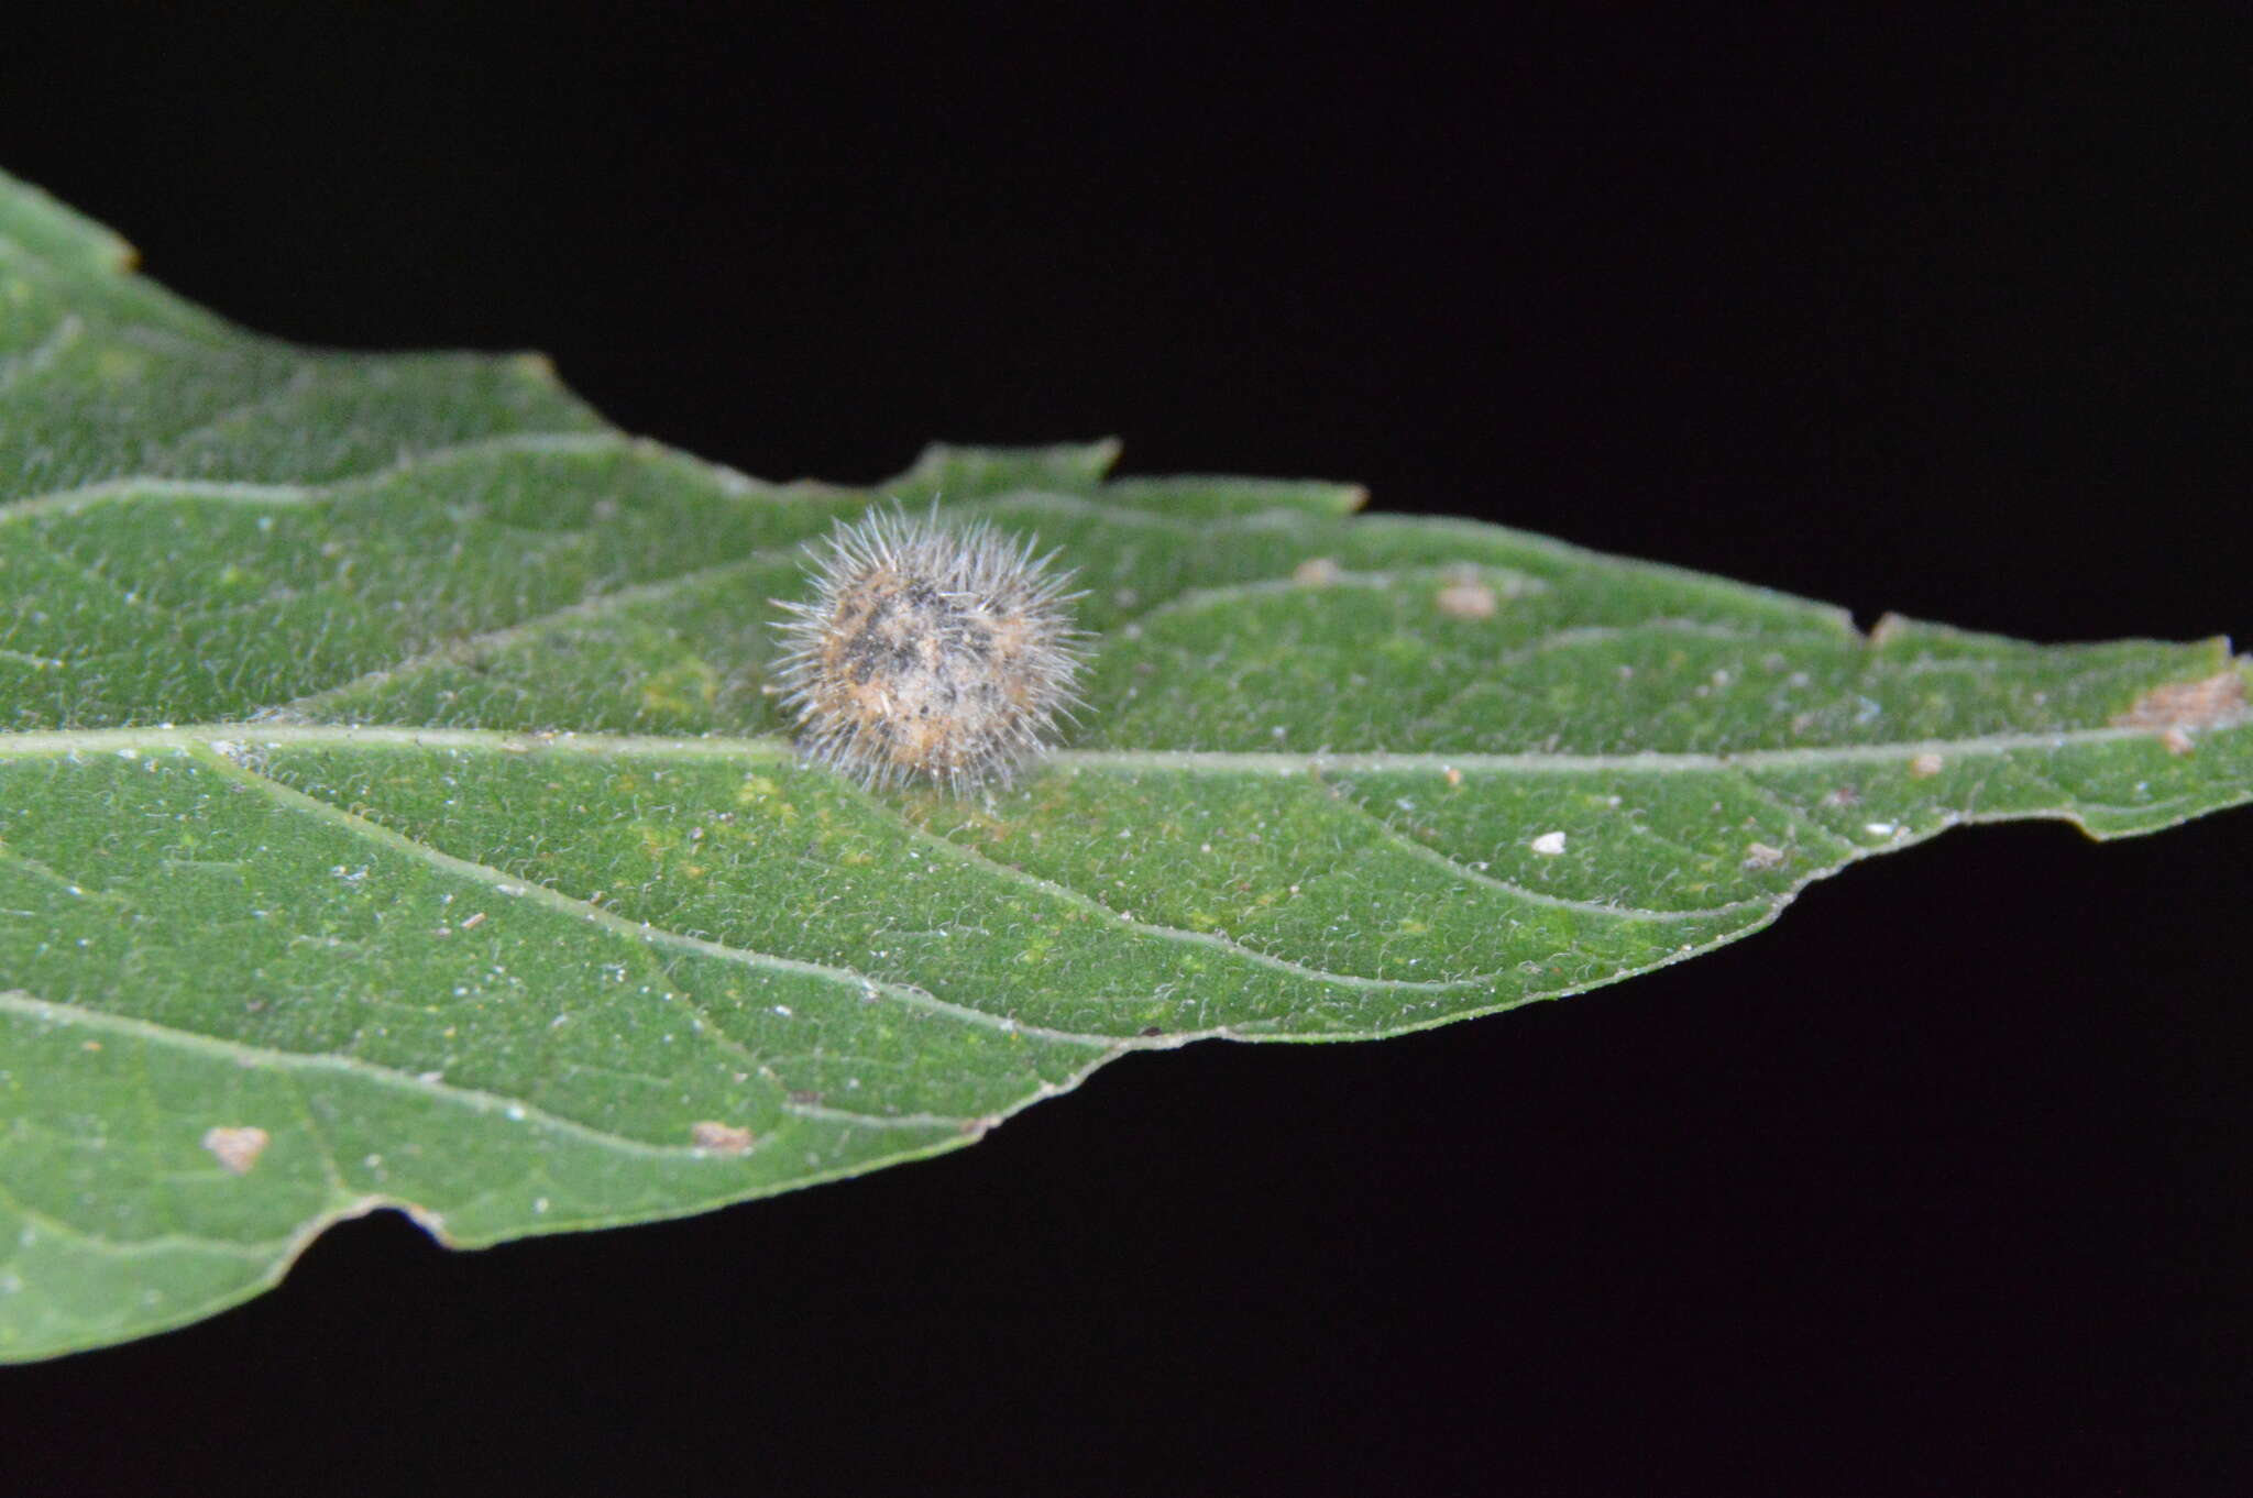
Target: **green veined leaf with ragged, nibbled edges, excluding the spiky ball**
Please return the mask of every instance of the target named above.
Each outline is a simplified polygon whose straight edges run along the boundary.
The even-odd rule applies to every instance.
[[[379,1205],[451,1243],[955,1149],[1136,1047],[1577,993],[1956,822],[2253,795],[2226,642],[2037,649],[933,448],[870,491],[536,358],[237,331],[0,178],[0,1356],[171,1327]],[[883,496],[1079,568],[1012,791],[795,761],[773,597]]]

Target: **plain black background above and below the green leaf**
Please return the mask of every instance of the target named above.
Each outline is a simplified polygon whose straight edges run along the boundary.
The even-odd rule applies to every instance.
[[[0,162],[261,331],[768,478],[1352,478],[2039,640],[2253,633],[2246,63],[2145,16],[16,14]],[[392,1214],[0,1370],[9,1491],[2226,1493],[2253,822],[1951,833],[1620,989],[1131,1056],[694,1221]]]

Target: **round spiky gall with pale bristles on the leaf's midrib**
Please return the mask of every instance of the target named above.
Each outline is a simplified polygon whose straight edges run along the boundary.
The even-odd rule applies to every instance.
[[[811,599],[775,599],[777,676],[798,748],[865,786],[1007,784],[1079,703],[1084,635],[1070,572],[985,520],[881,509],[809,565]]]

